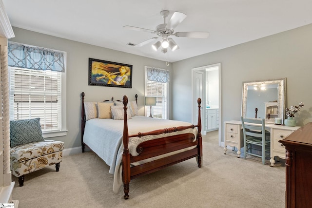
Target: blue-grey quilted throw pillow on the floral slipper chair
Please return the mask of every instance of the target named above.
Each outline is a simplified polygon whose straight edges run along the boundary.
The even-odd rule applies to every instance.
[[[44,141],[40,118],[10,121],[10,146]]]

